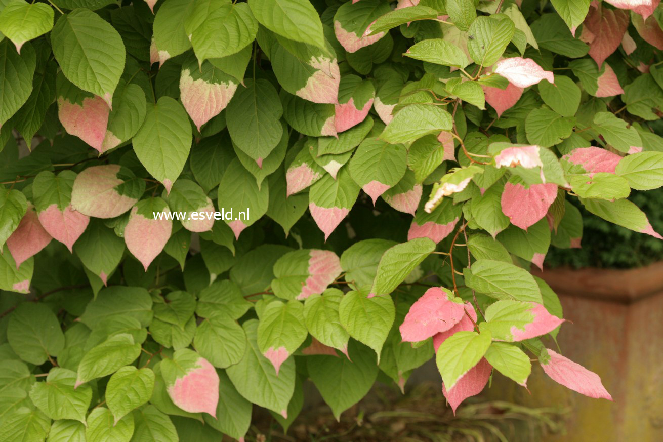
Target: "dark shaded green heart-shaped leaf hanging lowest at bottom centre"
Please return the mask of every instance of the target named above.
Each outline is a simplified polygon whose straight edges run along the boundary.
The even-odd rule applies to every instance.
[[[369,392],[378,373],[368,348],[352,341],[348,350],[348,358],[328,355],[306,358],[308,374],[336,420]]]

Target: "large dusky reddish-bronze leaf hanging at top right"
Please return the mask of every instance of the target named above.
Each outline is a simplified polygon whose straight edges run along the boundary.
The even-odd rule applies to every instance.
[[[589,56],[601,68],[603,61],[615,52],[621,43],[629,27],[629,13],[621,9],[591,6],[584,23],[587,31],[594,35],[589,43]]]

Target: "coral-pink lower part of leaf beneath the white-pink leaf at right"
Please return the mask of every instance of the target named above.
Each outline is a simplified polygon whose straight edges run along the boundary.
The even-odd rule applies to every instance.
[[[557,184],[532,184],[525,188],[519,183],[507,183],[502,194],[502,212],[509,217],[511,224],[527,230],[546,216],[555,198]]]

